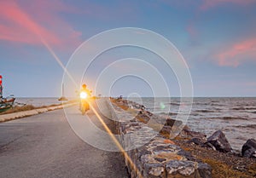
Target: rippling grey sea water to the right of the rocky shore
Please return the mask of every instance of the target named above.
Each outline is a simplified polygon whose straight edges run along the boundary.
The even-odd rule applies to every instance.
[[[149,112],[176,118],[183,112],[180,98],[133,98]],[[256,98],[193,98],[186,124],[194,131],[208,136],[221,129],[232,148],[241,152],[247,139],[256,139]]]

